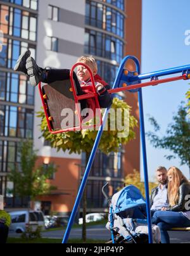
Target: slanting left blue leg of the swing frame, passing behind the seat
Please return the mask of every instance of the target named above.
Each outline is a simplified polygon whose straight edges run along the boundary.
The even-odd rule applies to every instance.
[[[125,62],[128,59],[130,59],[130,56],[127,56],[122,61],[121,65],[120,65],[120,68],[118,70],[117,77],[116,77],[114,85],[113,85],[113,89],[115,89],[115,87],[119,84],[120,79],[121,79],[122,74],[123,74],[123,69],[124,69],[124,66],[125,66]],[[72,210],[72,214],[70,215],[70,219],[68,221],[68,226],[66,227],[66,231],[65,231],[65,235],[64,235],[62,243],[67,243],[67,241],[68,241],[70,231],[72,229],[73,221],[75,219],[75,215],[77,214],[77,210],[79,208],[80,201],[81,201],[82,195],[84,193],[85,184],[87,182],[87,178],[88,178],[89,173],[91,171],[92,163],[94,162],[94,158],[96,156],[96,151],[98,149],[99,141],[100,141],[101,136],[103,134],[103,128],[105,127],[106,118],[108,117],[108,111],[109,111],[109,109],[106,109],[105,114],[103,116],[103,124],[101,125],[101,127],[99,127],[99,131],[98,131],[98,134],[96,136],[96,141],[95,141],[94,146],[92,148],[92,152],[91,152],[91,155],[89,157],[89,162],[87,163],[87,167],[86,167],[85,172],[84,172],[84,177],[82,178],[82,182],[80,184],[79,192],[78,192],[78,195],[77,195],[77,198],[76,198],[76,201],[75,201],[75,205],[74,205],[73,210]]]

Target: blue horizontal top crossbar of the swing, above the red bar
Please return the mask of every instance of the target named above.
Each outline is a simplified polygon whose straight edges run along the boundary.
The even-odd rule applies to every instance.
[[[141,74],[137,77],[132,77],[131,80],[144,80],[144,79],[150,79],[151,77],[161,77],[162,75],[173,75],[173,74],[181,73],[187,70],[190,70],[190,65],[184,65],[181,67],[168,68],[165,70],[159,70],[159,71],[155,71],[147,74]]]

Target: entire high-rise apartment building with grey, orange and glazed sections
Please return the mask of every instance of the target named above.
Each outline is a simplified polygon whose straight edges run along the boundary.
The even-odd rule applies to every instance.
[[[37,165],[53,162],[58,167],[51,180],[56,191],[39,198],[42,210],[45,214],[68,214],[85,167],[85,154],[58,153],[39,139],[40,120],[35,112],[41,110],[41,99],[37,88],[28,86],[26,77],[13,71],[15,61],[29,48],[41,67],[70,68],[79,56],[92,54],[99,74],[111,85],[126,54],[141,59],[141,0],[0,1],[0,10],[4,38],[0,48],[0,194],[6,196],[8,207],[27,204],[27,200],[24,205],[8,194],[7,188],[13,184],[6,176],[15,162],[19,165],[19,141],[32,139],[38,150]],[[120,96],[126,98],[125,94]],[[126,99],[138,118],[136,94],[127,94]],[[136,141],[119,153],[96,155],[87,182],[87,211],[105,210],[103,184],[110,182],[108,192],[112,195],[133,169],[139,170],[138,130]]]

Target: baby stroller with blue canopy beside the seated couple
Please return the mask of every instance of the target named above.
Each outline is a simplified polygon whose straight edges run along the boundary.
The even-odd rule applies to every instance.
[[[146,201],[135,186],[126,186],[110,199],[103,186],[102,192],[110,205],[106,228],[111,231],[108,243],[148,243]],[[160,229],[153,225],[154,243],[160,243]]]

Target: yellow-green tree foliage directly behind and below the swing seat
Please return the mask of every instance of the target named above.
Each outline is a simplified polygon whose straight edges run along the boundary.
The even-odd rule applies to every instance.
[[[122,124],[126,124],[126,122],[128,122],[129,124],[128,125],[129,135],[123,136],[124,138],[121,138],[122,136],[119,136],[119,134],[122,134],[122,135],[126,134],[126,132],[128,132],[128,128],[125,128],[122,131],[118,131],[118,129],[116,128],[115,131],[111,131],[110,124],[113,125],[113,122],[116,123],[116,120],[114,120],[116,118],[112,118],[111,115],[108,115],[108,131],[103,132],[103,136],[99,144],[99,149],[106,154],[110,153],[111,151],[117,152],[120,148],[120,144],[126,144],[131,139],[134,139],[136,137],[136,134],[134,132],[134,128],[137,127],[136,118],[133,117],[132,115],[129,115],[129,120],[128,120],[128,117],[124,115],[124,110],[127,109],[130,112],[130,106],[127,105],[127,103],[125,103],[123,100],[114,98],[112,109],[121,110],[120,117],[122,118]],[[65,132],[62,134],[51,134],[47,128],[47,122],[46,122],[46,117],[44,115],[44,112],[38,112],[38,117],[40,117],[42,120],[41,122],[42,136],[47,141],[50,141],[52,148],[56,148],[58,151],[68,150],[70,154],[72,153],[80,154],[82,151],[84,151],[85,153],[91,152],[92,146],[94,144],[94,140],[96,139],[96,135],[98,131],[84,129],[78,132]],[[115,126],[117,127],[117,125]]]

